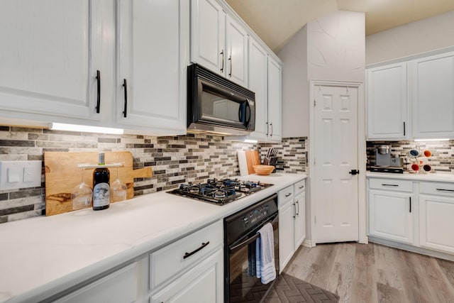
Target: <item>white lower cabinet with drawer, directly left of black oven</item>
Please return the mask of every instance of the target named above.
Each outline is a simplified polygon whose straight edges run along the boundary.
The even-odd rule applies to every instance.
[[[150,302],[223,302],[223,221],[150,253]]]

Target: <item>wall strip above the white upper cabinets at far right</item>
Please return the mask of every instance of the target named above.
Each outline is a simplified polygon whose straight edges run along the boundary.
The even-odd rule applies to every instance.
[[[368,35],[366,65],[454,45],[454,11]]]

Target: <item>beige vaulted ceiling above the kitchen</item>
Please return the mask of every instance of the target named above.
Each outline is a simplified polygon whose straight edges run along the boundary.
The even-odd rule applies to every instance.
[[[454,0],[226,0],[275,52],[309,21],[333,11],[365,13],[366,35],[454,10]]]

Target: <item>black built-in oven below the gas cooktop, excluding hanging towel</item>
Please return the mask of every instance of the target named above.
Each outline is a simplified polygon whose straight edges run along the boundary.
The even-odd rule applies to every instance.
[[[277,194],[224,219],[224,302],[260,302],[273,283],[262,284],[251,272],[257,233],[271,223],[275,246],[276,276],[279,273],[279,217]]]

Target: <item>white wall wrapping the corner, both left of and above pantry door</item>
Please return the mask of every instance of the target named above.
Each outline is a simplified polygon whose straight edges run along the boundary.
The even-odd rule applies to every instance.
[[[365,15],[336,11],[301,28],[277,53],[282,137],[309,137],[309,80],[364,82]]]

